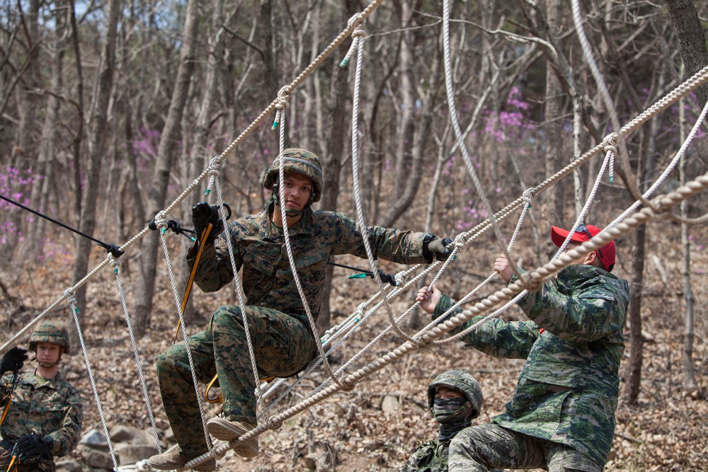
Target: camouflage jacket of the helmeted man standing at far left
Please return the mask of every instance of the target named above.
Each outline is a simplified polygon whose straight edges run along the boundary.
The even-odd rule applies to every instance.
[[[11,382],[11,375],[0,380],[0,393],[4,396]],[[69,454],[79,443],[81,423],[84,421],[84,402],[77,388],[57,372],[54,379],[40,385],[34,372],[21,374],[12,392],[12,403],[0,434],[8,441],[16,441],[25,434],[35,432],[49,436],[54,445],[52,456]]]

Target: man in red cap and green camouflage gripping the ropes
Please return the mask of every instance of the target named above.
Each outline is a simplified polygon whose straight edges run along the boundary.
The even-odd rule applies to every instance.
[[[578,226],[566,251],[600,233]],[[558,247],[569,231],[553,226]],[[622,331],[629,284],[610,272],[615,243],[573,261],[518,301],[531,321],[491,319],[465,336],[467,345],[495,356],[526,359],[506,412],[487,425],[459,432],[450,444],[450,471],[546,468],[549,472],[600,472],[615,432]],[[505,282],[515,275],[504,255],[494,270]],[[435,287],[416,300],[438,318],[455,301]],[[455,332],[481,320],[475,316]]]

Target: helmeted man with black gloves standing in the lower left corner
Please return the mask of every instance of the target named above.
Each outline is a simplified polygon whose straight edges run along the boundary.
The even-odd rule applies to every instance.
[[[81,394],[59,374],[62,355],[70,353],[67,328],[55,321],[40,323],[28,350],[36,355],[33,372],[18,374],[28,358],[20,347],[8,350],[0,360],[0,375],[12,372],[0,380],[3,408],[10,401],[0,425],[0,471],[52,472],[54,458],[69,454],[78,444],[84,421]]]

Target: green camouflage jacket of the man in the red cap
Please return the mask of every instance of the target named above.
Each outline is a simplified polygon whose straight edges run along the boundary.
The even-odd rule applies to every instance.
[[[433,317],[453,304],[443,296]],[[493,422],[566,444],[603,466],[615,431],[627,281],[592,265],[570,265],[518,304],[532,321],[491,319],[464,338],[486,354],[526,359],[506,412]]]

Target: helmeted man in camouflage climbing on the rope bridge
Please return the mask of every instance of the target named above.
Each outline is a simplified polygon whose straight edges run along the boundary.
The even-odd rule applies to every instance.
[[[265,209],[229,223],[228,231],[219,238],[215,239],[224,226],[216,207],[201,202],[192,209],[197,234],[202,234],[208,223],[214,226],[202,248],[195,283],[204,292],[216,292],[233,280],[227,246],[227,238],[231,238],[236,267],[243,270],[245,314],[261,378],[293,376],[316,355],[312,329],[287,258],[282,218],[287,218],[297,275],[315,318],[329,258],[338,254],[367,257],[355,221],[343,213],[312,210],[311,205],[320,199],[324,185],[319,158],[304,149],[285,149],[282,183],[278,182],[278,163],[278,159],[273,162],[263,181],[263,187],[271,191]],[[285,202],[278,201],[279,185],[285,190]],[[450,239],[440,240],[433,234],[369,226],[365,237],[375,258],[395,263],[432,263],[433,256],[444,260],[452,252]],[[190,268],[198,251],[195,243],[188,252]],[[207,383],[218,374],[224,399],[224,418],[212,418],[207,429],[215,438],[231,442],[236,454],[253,457],[258,454],[258,437],[237,441],[257,423],[256,384],[241,316],[238,305],[222,306],[212,315],[207,330],[190,336],[189,345],[198,380]],[[200,428],[201,416],[185,343],[173,345],[159,355],[156,367],[165,413],[178,447],[152,456],[148,464],[159,470],[171,470],[205,454],[207,444]],[[211,471],[215,467],[212,458],[194,470]]]

